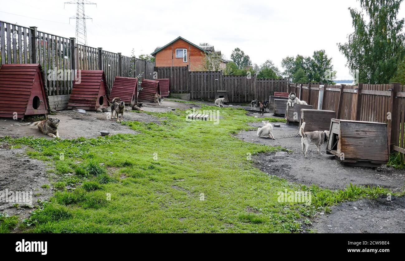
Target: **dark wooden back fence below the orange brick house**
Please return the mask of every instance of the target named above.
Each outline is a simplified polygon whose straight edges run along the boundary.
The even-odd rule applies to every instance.
[[[169,78],[172,93],[190,93],[192,99],[213,99],[228,91],[231,103],[266,101],[274,92],[287,92],[288,79],[257,79],[256,75],[223,75],[222,71],[188,71],[188,66],[155,67],[156,77]]]

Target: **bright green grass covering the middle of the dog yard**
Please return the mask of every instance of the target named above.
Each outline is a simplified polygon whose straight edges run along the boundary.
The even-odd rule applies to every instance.
[[[203,110],[217,109],[202,106]],[[136,135],[73,140],[6,137],[12,145],[30,146],[30,156],[53,162],[59,182],[76,185],[72,191],[60,186],[54,197],[26,220],[27,231],[298,232],[303,217],[316,211],[386,193],[357,186],[323,190],[266,175],[246,155],[284,149],[233,137],[249,130],[248,122],[263,118],[246,116],[243,109],[220,111],[219,124],[188,122],[181,110],[149,112],[160,124],[123,123],[137,131]],[[279,203],[277,192],[285,188],[310,190],[313,204]]]

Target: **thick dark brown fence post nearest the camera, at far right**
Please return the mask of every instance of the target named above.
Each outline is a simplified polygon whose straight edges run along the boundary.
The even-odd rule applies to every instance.
[[[396,133],[399,131],[396,119],[401,116],[401,111],[394,108],[394,100],[396,99],[396,92],[401,92],[401,83],[391,83],[391,96],[388,101],[388,115],[387,115],[387,131],[388,131],[388,153],[391,152],[392,146],[396,145],[398,141],[392,140],[396,137]],[[396,139],[396,138],[395,138]]]

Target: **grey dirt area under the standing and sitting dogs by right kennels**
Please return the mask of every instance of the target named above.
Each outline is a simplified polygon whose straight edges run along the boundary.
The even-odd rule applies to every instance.
[[[322,155],[316,153],[315,145],[311,145],[307,157],[301,152],[301,136],[298,136],[298,125],[280,123],[273,127],[275,140],[257,137],[257,131],[241,132],[237,138],[247,142],[271,146],[280,145],[288,150],[288,157],[277,157],[275,153],[254,156],[256,166],[269,175],[277,175],[289,181],[323,188],[344,189],[352,183],[364,186],[384,186],[399,191],[404,186],[405,171],[387,166],[375,170],[368,167],[343,166],[333,155],[327,155],[325,145]],[[257,130],[261,122],[251,124]]]

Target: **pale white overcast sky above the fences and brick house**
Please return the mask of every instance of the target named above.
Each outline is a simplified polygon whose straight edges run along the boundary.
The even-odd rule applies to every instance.
[[[75,37],[75,20],[69,24],[69,17],[76,15],[76,5],[64,6],[68,0],[1,1],[2,21]],[[352,79],[337,43],[347,41],[353,30],[347,8],[358,8],[356,0],[92,2],[97,6],[85,6],[86,15],[93,18],[87,20],[87,43],[92,47],[128,56],[134,49],[139,56],[182,36],[195,44],[214,45],[227,59],[239,47],[253,63],[270,59],[279,67],[286,56],[311,56],[325,49],[333,58],[337,79]],[[399,12],[402,17],[405,3]]]

